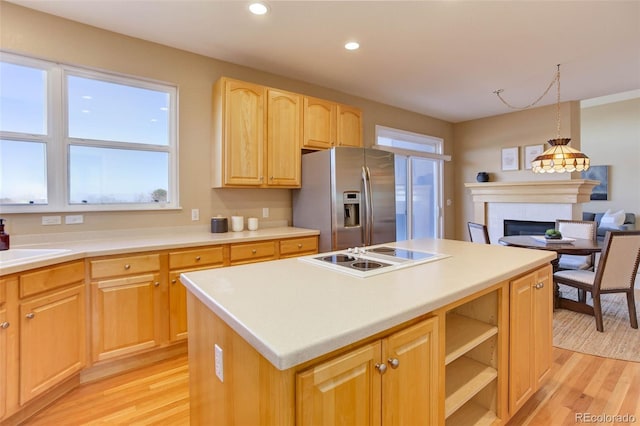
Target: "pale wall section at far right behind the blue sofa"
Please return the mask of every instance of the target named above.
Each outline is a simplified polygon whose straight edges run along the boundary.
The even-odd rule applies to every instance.
[[[609,167],[609,199],[583,211],[635,213],[640,229],[640,98],[582,109],[582,147],[592,165]]]

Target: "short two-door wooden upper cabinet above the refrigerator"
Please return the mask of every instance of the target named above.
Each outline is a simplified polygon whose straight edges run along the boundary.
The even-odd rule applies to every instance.
[[[355,107],[305,96],[302,147],[362,146],[362,112]]]

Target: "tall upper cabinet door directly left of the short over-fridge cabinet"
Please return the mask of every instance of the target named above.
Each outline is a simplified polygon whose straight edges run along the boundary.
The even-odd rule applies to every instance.
[[[302,96],[268,90],[267,185],[300,187]]]

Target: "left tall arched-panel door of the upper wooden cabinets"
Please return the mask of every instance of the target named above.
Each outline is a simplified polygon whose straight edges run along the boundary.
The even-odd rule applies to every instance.
[[[227,80],[224,102],[225,184],[262,185],[265,88]]]

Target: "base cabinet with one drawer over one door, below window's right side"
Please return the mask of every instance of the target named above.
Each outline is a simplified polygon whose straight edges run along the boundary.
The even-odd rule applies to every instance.
[[[89,264],[93,360],[159,346],[166,316],[166,278],[160,274],[160,256],[125,256]]]

